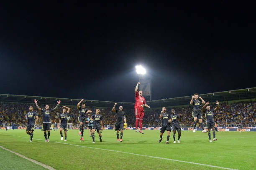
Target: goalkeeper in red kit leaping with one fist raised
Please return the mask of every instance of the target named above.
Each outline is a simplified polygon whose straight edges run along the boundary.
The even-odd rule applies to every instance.
[[[144,116],[144,107],[146,106],[148,108],[150,108],[147,104],[146,104],[146,100],[145,98],[142,96],[142,90],[138,91],[138,85],[140,84],[140,82],[137,83],[136,87],[135,87],[135,116],[136,116],[136,122],[135,122],[135,126],[136,126],[136,132],[140,132],[143,134],[142,132],[142,120],[143,120],[143,116]],[[138,123],[140,128],[138,128]]]

